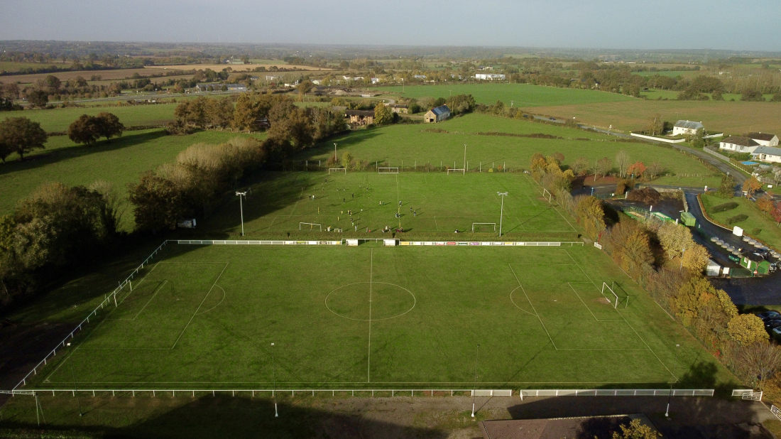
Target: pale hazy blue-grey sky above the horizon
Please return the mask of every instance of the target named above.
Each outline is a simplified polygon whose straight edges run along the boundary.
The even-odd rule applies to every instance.
[[[0,0],[0,39],[781,50],[779,0]]]

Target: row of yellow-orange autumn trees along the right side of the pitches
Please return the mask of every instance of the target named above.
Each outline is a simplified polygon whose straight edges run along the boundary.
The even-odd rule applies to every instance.
[[[639,223],[628,216],[608,215],[611,208],[597,198],[572,197],[567,184],[572,174],[562,171],[563,159],[560,154],[535,154],[533,177],[576,218],[587,237],[599,239],[605,252],[705,348],[747,382],[764,386],[781,369],[781,350],[770,344],[761,319],[739,314],[729,296],[702,277],[710,255],[694,241],[691,230],[671,222]],[[658,202],[661,195],[647,187],[629,192],[628,198]]]

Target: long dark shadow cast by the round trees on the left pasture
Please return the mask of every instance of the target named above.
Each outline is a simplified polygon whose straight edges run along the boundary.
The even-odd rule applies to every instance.
[[[141,145],[148,141],[154,141],[159,137],[165,137],[165,130],[153,130],[147,132],[131,132],[122,137],[106,141],[98,141],[95,145],[79,145],[66,148],[57,148],[52,152],[42,152],[36,155],[30,155],[23,161],[16,160],[0,166],[0,174],[13,173],[22,170],[33,170],[41,166],[51,165],[52,163],[62,162],[68,159],[78,159],[85,155],[95,154],[96,152],[111,152],[122,148],[128,148],[134,145]]]

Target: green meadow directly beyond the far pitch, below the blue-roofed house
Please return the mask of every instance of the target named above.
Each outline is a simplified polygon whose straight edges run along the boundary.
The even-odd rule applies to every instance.
[[[448,133],[429,132],[426,130],[447,130]],[[501,132],[512,134],[549,134],[562,139],[508,137],[478,135],[480,132]],[[589,139],[589,140],[576,140]],[[349,151],[358,159],[372,164],[384,162],[384,166],[402,166],[406,169],[422,166],[426,162],[437,168],[440,166],[455,166],[460,168],[464,160],[464,144],[466,161],[469,170],[480,169],[483,172],[490,168],[506,166],[510,170],[528,169],[531,156],[535,152],[545,155],[562,152],[564,163],[570,164],[576,158],[583,156],[596,161],[602,157],[614,159],[621,150],[629,152],[633,161],[640,160],[646,164],[658,161],[669,173],[662,177],[660,184],[677,184],[679,186],[702,186],[719,183],[719,177],[712,177],[713,172],[704,165],[680,152],[669,148],[648,145],[639,142],[615,141],[615,137],[606,134],[590,133],[565,127],[555,127],[543,123],[533,123],[524,120],[509,120],[483,114],[469,114],[448,120],[444,123],[431,125],[394,125],[372,130],[356,130],[326,145],[313,150],[307,150],[305,155],[298,157],[301,162],[326,159],[333,156],[333,143],[337,143],[338,154]],[[684,177],[685,174],[697,177]]]

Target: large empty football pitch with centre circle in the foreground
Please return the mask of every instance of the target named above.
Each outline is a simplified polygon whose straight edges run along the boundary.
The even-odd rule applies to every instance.
[[[172,242],[70,342],[28,388],[663,388],[704,354],[580,245]]]

